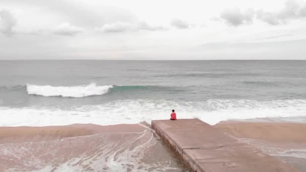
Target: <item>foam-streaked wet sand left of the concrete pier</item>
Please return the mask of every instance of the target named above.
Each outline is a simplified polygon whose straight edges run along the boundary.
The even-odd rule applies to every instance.
[[[186,171],[149,126],[0,127],[0,171]]]

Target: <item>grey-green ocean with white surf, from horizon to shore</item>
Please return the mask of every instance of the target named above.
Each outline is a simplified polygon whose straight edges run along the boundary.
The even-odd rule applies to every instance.
[[[0,60],[0,126],[150,123],[172,109],[212,125],[306,116],[306,61]]]

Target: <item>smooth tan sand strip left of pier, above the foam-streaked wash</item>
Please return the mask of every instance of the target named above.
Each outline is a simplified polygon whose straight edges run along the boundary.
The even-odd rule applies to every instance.
[[[72,124],[65,126],[44,127],[0,127],[0,144],[18,142],[39,142],[60,140],[79,136],[90,136],[102,133],[141,133],[141,125],[120,124],[101,126],[95,124]]]

